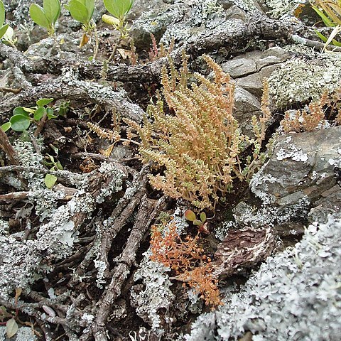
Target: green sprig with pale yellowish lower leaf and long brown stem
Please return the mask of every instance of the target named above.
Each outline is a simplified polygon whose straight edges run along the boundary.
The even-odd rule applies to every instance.
[[[129,37],[129,28],[126,23],[126,15],[131,10],[131,6],[133,6],[133,4],[134,0],[104,0],[104,6],[107,11],[112,14],[112,16],[104,14],[102,16],[102,20],[104,23],[109,23],[109,25],[114,26],[115,30],[119,31],[120,33],[119,40],[117,40],[117,43],[114,45],[108,62],[114,58],[117,46],[121,40]]]

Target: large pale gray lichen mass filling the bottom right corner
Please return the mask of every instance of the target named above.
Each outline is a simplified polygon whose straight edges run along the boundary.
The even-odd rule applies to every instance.
[[[187,341],[340,340],[341,219],[313,224],[293,249],[269,257],[224,305],[200,315]],[[328,326],[328,328],[326,328]]]

